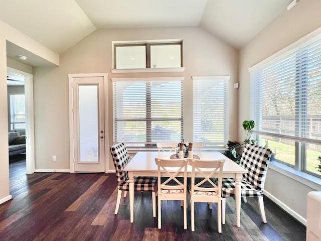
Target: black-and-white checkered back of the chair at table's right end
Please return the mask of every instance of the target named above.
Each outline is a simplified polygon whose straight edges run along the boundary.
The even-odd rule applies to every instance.
[[[257,190],[264,189],[267,166],[272,152],[268,148],[247,144],[243,150],[240,166],[247,170],[243,178]]]

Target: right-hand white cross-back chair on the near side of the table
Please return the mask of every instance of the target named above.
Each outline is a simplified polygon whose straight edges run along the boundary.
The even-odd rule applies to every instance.
[[[192,180],[191,180],[191,226],[192,231],[195,231],[194,220],[194,202],[207,202],[218,203],[217,206],[217,228],[218,232],[222,232],[221,223],[221,192],[222,192],[222,176],[224,160],[216,161],[202,161],[196,159],[189,159],[189,164],[192,166]],[[204,169],[213,169],[211,173],[204,173]],[[198,177],[204,178],[199,183],[195,184],[195,171],[198,173]],[[211,178],[218,177],[217,182],[213,182]],[[206,187],[205,185],[206,184]]]

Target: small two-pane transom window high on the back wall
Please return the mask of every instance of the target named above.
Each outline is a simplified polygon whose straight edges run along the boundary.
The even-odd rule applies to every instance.
[[[183,42],[114,44],[115,69],[183,67]]]

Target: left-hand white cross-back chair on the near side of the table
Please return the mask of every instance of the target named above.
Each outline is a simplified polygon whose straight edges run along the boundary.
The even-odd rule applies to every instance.
[[[184,202],[184,229],[187,229],[187,164],[188,159],[168,160],[155,158],[155,162],[158,166],[158,228],[162,226],[162,200],[179,200]],[[171,168],[175,168],[172,171]],[[183,183],[176,177],[182,173]],[[166,173],[166,175],[164,175]],[[166,181],[162,182],[161,177],[170,176]],[[169,182],[173,180],[177,185],[169,185]]]

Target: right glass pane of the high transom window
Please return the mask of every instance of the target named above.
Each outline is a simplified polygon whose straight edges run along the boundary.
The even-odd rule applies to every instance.
[[[151,45],[150,67],[181,67],[181,45]]]

